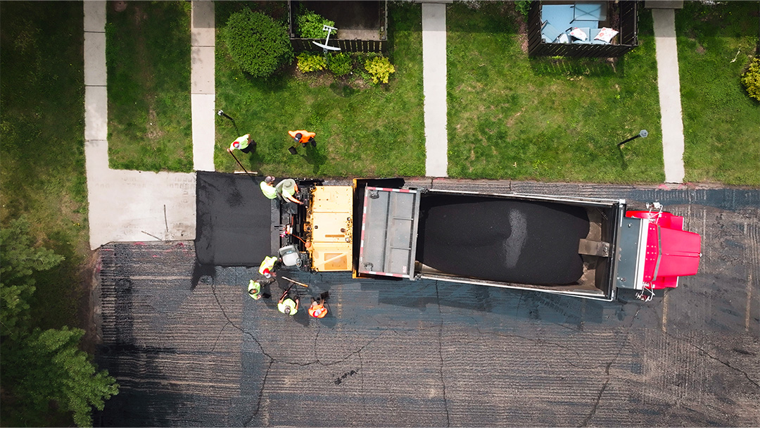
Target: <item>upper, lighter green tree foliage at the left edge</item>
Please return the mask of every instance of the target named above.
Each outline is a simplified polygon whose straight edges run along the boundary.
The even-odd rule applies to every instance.
[[[15,336],[29,320],[28,300],[34,293],[33,274],[63,261],[51,249],[35,248],[24,218],[0,230],[0,335]]]

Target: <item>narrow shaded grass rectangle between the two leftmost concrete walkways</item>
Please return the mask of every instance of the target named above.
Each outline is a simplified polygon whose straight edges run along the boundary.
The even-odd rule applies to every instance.
[[[112,168],[193,170],[190,2],[108,4],[108,152]]]

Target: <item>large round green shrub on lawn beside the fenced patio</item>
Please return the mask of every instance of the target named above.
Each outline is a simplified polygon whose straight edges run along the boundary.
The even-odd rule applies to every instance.
[[[287,27],[265,14],[250,9],[231,14],[222,36],[233,60],[255,78],[271,76],[293,61]]]

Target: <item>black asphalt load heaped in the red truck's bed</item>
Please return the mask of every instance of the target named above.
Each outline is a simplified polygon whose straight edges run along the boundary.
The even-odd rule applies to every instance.
[[[584,208],[464,195],[424,195],[417,261],[465,277],[572,284],[583,274]]]

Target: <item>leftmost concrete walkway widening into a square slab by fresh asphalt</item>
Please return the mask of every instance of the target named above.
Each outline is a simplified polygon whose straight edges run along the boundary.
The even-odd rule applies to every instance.
[[[195,173],[109,168],[107,5],[84,2],[84,157],[90,249],[119,241],[195,239]]]

